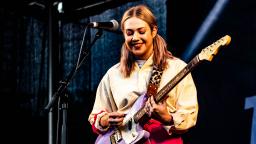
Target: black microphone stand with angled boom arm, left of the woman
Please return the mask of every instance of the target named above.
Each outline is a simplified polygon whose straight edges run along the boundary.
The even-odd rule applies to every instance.
[[[86,29],[87,29],[87,27],[86,27]],[[77,70],[80,68],[81,64],[83,63],[85,58],[88,56],[89,51],[90,51],[91,47],[93,46],[93,44],[96,42],[96,40],[98,40],[102,36],[102,31],[103,31],[102,29],[98,29],[98,31],[95,34],[95,37],[94,37],[93,41],[90,43],[88,48],[86,48],[87,51],[82,51],[83,41],[84,41],[84,37],[83,37],[83,41],[82,41],[81,48],[80,48],[80,54],[79,54],[79,57],[78,57],[76,67],[74,67],[73,70],[69,73],[66,80],[59,82],[60,85],[59,85],[57,91],[54,93],[51,100],[49,101],[49,103],[47,104],[47,106],[43,110],[43,112],[45,112],[45,113],[50,112],[50,110],[52,109],[52,107],[56,103],[57,99],[58,98],[61,99],[61,97],[64,96],[63,100],[59,100],[59,101],[62,102],[62,104],[61,104],[61,108],[58,108],[59,111],[62,112],[61,144],[67,144],[67,131],[66,131],[67,126],[66,126],[66,123],[67,123],[67,109],[68,109],[68,100],[67,99],[68,99],[68,96],[67,96],[67,94],[65,94],[67,86],[70,84],[71,80],[74,78],[75,74],[77,73]],[[84,36],[85,36],[85,33],[84,33]],[[81,61],[80,61],[80,59],[81,59]]]

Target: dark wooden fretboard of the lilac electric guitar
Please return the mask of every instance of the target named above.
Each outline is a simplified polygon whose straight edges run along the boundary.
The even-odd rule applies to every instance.
[[[156,103],[166,99],[167,93],[170,92],[187,74],[189,74],[201,60],[198,58],[198,55],[195,56],[171,81],[169,81],[154,97]],[[145,118],[146,111],[144,107],[139,109],[139,111],[134,115],[134,121],[140,122]]]

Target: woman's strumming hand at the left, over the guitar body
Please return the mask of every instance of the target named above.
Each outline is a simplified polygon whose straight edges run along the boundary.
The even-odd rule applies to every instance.
[[[119,112],[107,113],[100,119],[100,125],[104,127],[108,126],[120,126],[124,120],[125,114]]]

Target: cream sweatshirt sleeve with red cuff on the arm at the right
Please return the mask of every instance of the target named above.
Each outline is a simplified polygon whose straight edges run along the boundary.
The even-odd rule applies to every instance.
[[[176,70],[186,64],[179,63]],[[198,115],[197,90],[191,73],[187,74],[169,93],[166,102],[168,111],[173,117],[171,126],[164,128],[171,133],[183,133],[196,125]]]

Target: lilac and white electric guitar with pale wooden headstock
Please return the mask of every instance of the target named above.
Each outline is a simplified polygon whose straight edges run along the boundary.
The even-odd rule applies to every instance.
[[[218,53],[221,47],[227,46],[231,41],[231,37],[226,35],[208,47],[204,48],[196,55],[172,80],[170,80],[156,95],[154,95],[156,103],[163,101],[170,92],[187,74],[189,74],[202,61],[212,61],[213,57]],[[105,134],[99,135],[96,144],[135,144],[142,138],[148,138],[149,132],[143,130],[139,122],[147,119],[144,103],[147,95],[140,96],[128,114],[124,117],[122,126],[118,128],[110,128]]]

